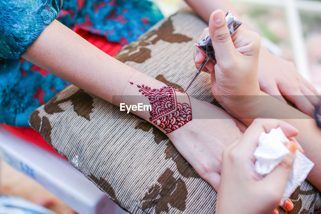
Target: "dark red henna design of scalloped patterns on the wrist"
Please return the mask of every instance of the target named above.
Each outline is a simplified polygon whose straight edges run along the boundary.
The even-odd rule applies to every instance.
[[[192,120],[191,101],[188,94],[169,85],[160,89],[151,89],[147,85],[137,85],[137,87],[139,92],[148,96],[152,105],[152,109],[149,111],[151,115],[149,120],[166,133],[172,132]],[[189,103],[178,103],[176,97],[178,93],[186,94]]]

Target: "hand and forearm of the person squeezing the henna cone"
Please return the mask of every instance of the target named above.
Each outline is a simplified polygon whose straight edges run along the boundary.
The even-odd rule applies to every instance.
[[[243,29],[231,38],[224,17],[225,14],[217,10],[212,13],[209,22],[209,33],[217,59],[215,72],[211,74],[213,95],[226,111],[247,126],[255,118],[265,117],[281,119],[299,129],[300,133],[296,139],[304,149],[305,155],[315,163],[307,180],[321,190],[321,146],[318,142],[321,131],[315,120],[260,90],[257,71],[259,37]],[[255,125],[257,124],[253,126]],[[294,138],[291,140],[295,142]],[[297,146],[299,147],[298,144]],[[271,183],[275,182],[278,182],[277,178],[271,180]],[[261,203],[264,204],[265,200],[262,198]]]

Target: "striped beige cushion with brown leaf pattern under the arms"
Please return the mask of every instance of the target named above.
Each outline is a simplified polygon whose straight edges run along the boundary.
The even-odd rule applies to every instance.
[[[116,58],[182,89],[195,72],[194,43],[205,27],[194,13],[180,11],[125,46]],[[190,94],[215,103],[209,76],[206,73],[200,76]],[[76,86],[66,88],[32,112],[30,125],[131,213],[215,212],[216,192],[165,134],[150,122],[119,111],[113,104]],[[75,157],[77,163],[73,161]],[[292,195],[292,201],[295,210],[291,213],[312,214],[321,207],[320,193],[307,181]]]

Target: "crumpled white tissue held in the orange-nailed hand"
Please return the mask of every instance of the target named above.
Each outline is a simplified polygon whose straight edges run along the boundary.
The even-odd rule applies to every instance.
[[[285,146],[285,143],[289,141],[280,127],[271,129],[269,133],[262,132],[258,139],[258,147],[254,152],[256,172],[260,175],[271,173],[281,163],[282,159],[290,153],[290,150]],[[280,206],[306,179],[313,166],[314,163],[305,155],[299,150],[295,151],[293,168],[289,174]]]

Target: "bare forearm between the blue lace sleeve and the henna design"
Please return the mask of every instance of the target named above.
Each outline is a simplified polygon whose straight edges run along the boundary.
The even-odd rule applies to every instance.
[[[144,96],[121,96],[140,95],[136,85],[145,84],[153,88],[165,86],[156,79],[108,56],[56,20],[48,25],[22,57],[118,105],[117,102],[126,103],[128,106],[137,103],[150,104]],[[148,111],[136,111],[135,114],[146,120],[150,117]]]

